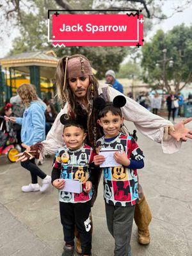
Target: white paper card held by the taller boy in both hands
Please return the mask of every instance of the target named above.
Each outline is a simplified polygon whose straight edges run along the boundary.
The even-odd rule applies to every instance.
[[[113,148],[101,148],[99,155],[104,156],[105,157],[105,161],[100,164],[101,168],[104,167],[115,167],[115,166],[122,166],[122,164],[118,164],[116,163],[113,155],[115,152],[121,152],[121,150],[118,149],[113,149]]]

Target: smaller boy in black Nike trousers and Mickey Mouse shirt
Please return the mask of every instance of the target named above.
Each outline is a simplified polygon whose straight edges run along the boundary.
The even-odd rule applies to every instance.
[[[75,225],[81,241],[81,255],[88,256],[92,255],[90,211],[93,191],[90,164],[93,162],[93,149],[84,144],[86,133],[83,125],[75,120],[65,119],[65,115],[62,115],[60,120],[65,125],[63,128],[65,147],[60,148],[54,157],[52,185],[59,189],[60,195],[60,216],[65,240],[62,256],[74,255]],[[66,180],[79,180],[82,184],[82,192],[62,191]]]

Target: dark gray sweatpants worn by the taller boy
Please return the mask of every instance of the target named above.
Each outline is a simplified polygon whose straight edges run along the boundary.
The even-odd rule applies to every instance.
[[[106,204],[108,230],[115,239],[115,256],[127,256],[131,241],[134,205],[119,207]]]

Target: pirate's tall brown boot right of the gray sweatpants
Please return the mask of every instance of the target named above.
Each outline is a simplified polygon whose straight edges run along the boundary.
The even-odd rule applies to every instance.
[[[134,211],[134,221],[138,226],[138,243],[149,244],[150,243],[150,233],[148,230],[148,225],[152,220],[152,214],[148,207],[145,196],[136,204]]]

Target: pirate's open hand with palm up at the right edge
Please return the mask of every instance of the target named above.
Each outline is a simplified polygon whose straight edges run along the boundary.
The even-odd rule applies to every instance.
[[[192,121],[192,117],[182,120],[178,124],[174,125],[175,131],[170,131],[169,134],[175,138],[177,141],[187,141],[188,138],[192,139],[192,130],[185,127],[185,124],[188,124]]]

